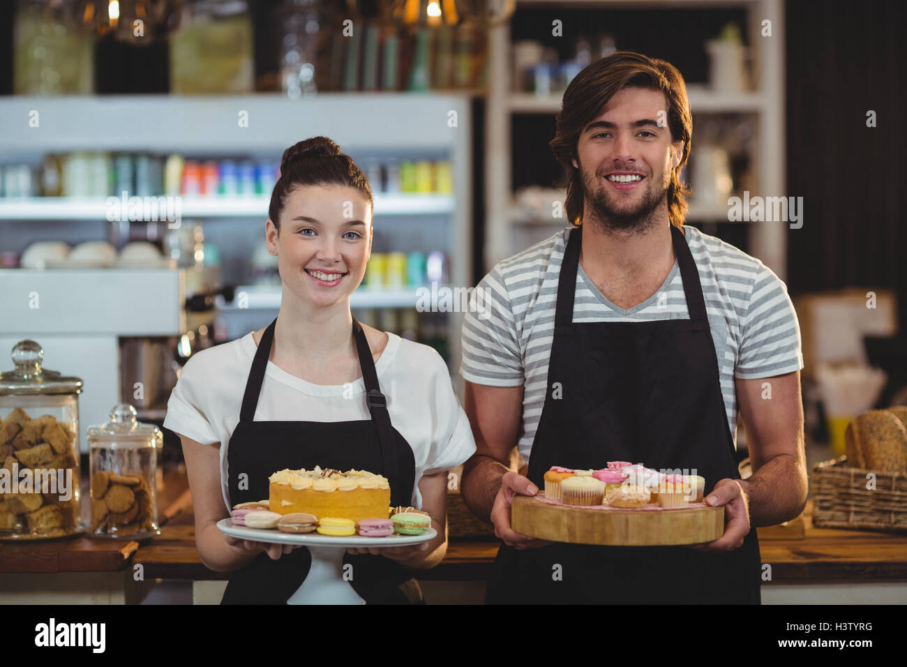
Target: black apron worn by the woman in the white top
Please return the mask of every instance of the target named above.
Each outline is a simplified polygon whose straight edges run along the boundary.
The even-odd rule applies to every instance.
[[[410,505],[415,483],[413,450],[391,425],[366,335],[355,318],[353,332],[372,418],[342,422],[254,421],[276,324],[277,319],[265,329],[258,343],[239,424],[229,439],[230,505],[267,498],[268,476],[278,470],[310,470],[315,466],[356,468],[383,475],[391,487],[391,505]],[[311,554],[304,546],[282,554],[276,561],[262,552],[230,575],[220,603],[285,604],[306,579],[311,562]],[[344,563],[353,565],[350,584],[366,603],[424,602],[419,584],[409,571],[384,556],[346,554]]]

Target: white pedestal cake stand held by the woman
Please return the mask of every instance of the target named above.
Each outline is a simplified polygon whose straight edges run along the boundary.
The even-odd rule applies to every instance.
[[[247,528],[244,525],[233,525],[228,519],[220,519],[218,528],[224,535],[239,540],[267,542],[269,544],[303,545],[312,554],[312,566],[306,575],[306,581],[299,586],[296,593],[290,595],[288,604],[365,604],[353,590],[349,581],[344,579],[343,557],[348,548],[371,547],[382,549],[389,546],[405,546],[428,542],[437,535],[434,528],[429,528],[424,535],[391,535],[390,537],[333,537],[319,533],[282,533],[275,529]],[[356,573],[353,573],[356,576]]]

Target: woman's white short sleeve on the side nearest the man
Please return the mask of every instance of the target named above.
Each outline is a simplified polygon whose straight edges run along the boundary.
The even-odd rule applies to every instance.
[[[432,445],[423,475],[434,475],[460,466],[475,453],[473,429],[460,400],[453,391],[444,359],[437,356],[438,367],[432,378],[434,412]]]

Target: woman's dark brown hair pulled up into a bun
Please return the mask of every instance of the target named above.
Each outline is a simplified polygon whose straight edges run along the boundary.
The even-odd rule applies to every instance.
[[[280,159],[280,178],[268,206],[268,217],[278,231],[289,193],[306,185],[347,185],[360,191],[375,207],[372,188],[356,162],[327,137],[312,137],[290,146]]]

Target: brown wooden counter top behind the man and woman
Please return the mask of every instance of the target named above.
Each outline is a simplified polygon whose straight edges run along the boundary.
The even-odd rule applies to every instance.
[[[83,513],[88,495],[83,491]],[[0,573],[99,573],[141,564],[146,579],[225,580],[201,564],[195,548],[191,498],[184,473],[164,475],[158,511],[161,535],[139,542],[98,541],[82,536],[49,542],[0,543]],[[812,504],[804,513],[803,539],[767,539],[760,530],[762,560],[772,582],[844,579],[844,583],[907,579],[907,535],[815,528]],[[498,542],[452,540],[444,562],[418,573],[426,581],[486,579]]]

